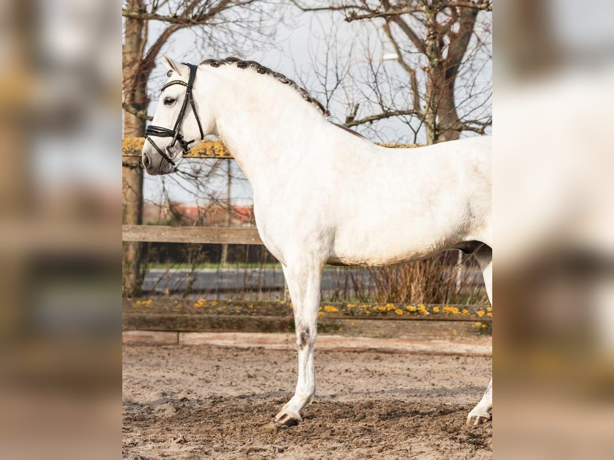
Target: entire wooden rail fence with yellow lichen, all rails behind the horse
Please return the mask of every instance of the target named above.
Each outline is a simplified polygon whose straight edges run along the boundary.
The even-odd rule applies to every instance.
[[[141,155],[142,138],[125,138],[123,156]],[[387,147],[415,147],[387,145]],[[231,158],[218,141],[190,152],[195,158]],[[123,225],[124,242],[262,245],[257,229]],[[492,309],[485,305],[322,303],[318,331],[324,334],[398,339],[453,339],[492,334]],[[206,299],[123,299],[125,331],[294,330],[290,302],[212,301]]]

